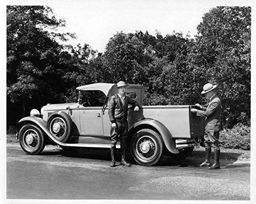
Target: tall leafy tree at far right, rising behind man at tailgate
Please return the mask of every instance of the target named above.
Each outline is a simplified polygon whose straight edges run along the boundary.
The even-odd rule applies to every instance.
[[[197,27],[188,57],[201,87],[218,84],[226,127],[250,119],[250,13],[250,7],[211,9]]]

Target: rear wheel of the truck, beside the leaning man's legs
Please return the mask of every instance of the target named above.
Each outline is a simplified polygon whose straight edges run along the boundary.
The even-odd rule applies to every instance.
[[[130,146],[134,160],[143,166],[152,166],[163,156],[163,139],[151,129],[136,132]]]

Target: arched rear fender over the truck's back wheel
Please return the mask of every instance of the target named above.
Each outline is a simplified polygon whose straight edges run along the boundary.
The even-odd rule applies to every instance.
[[[133,126],[131,126],[129,132],[133,131],[140,125],[151,125],[157,129],[157,131],[160,133],[161,137],[163,138],[163,142],[166,146],[166,148],[174,153],[178,154],[179,150],[176,148],[176,145],[172,139],[172,134],[168,131],[168,129],[158,120],[152,119],[152,118],[145,118],[142,120],[137,121]]]

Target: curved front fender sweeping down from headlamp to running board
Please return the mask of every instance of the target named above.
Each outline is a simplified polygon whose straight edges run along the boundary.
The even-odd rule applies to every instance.
[[[62,146],[68,146],[67,143],[60,142],[57,139],[55,139],[55,137],[53,137],[53,135],[50,133],[50,131],[46,127],[46,121],[43,120],[42,118],[35,117],[35,116],[34,117],[28,116],[20,119],[18,122],[25,122],[25,121],[36,123],[40,127],[40,129],[44,131],[48,135],[48,137],[51,138],[56,144],[62,145]]]

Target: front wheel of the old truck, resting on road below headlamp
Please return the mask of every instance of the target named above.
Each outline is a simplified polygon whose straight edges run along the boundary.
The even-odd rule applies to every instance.
[[[26,124],[19,131],[19,144],[28,155],[38,155],[45,148],[44,132],[34,124]]]

